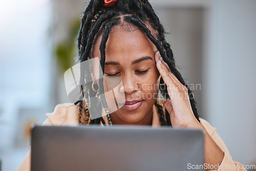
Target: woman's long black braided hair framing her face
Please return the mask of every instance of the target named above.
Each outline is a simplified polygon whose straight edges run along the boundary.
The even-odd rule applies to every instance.
[[[108,40],[111,28],[114,26],[122,26],[123,23],[128,23],[138,27],[142,30],[146,36],[153,42],[157,47],[162,59],[167,63],[170,71],[179,79],[179,81],[187,88],[188,96],[191,104],[191,108],[197,120],[199,120],[198,110],[196,107],[196,101],[194,95],[185,83],[181,74],[176,68],[173,51],[170,45],[166,42],[164,36],[164,29],[157,17],[155,11],[153,10],[151,4],[148,0],[118,0],[113,6],[103,7],[104,0],[91,0],[86,10],[83,11],[83,16],[81,18],[81,27],[78,34],[77,50],[79,54],[79,62],[86,61],[92,58],[92,47],[95,44],[95,40],[102,34],[100,41],[100,67],[104,73],[104,62],[105,62],[105,46]],[[82,71],[84,73],[86,71]],[[100,73],[99,78],[103,78],[103,73]],[[85,74],[86,77],[91,77],[90,74]],[[160,83],[164,83],[163,79],[160,79]],[[103,79],[99,79],[99,84],[103,85]],[[82,85],[82,84],[81,84]],[[90,87],[90,86],[89,86]],[[165,95],[165,98],[169,98],[167,92],[166,84],[160,84],[160,90]],[[88,92],[84,91],[85,88],[81,86],[82,98],[89,98]],[[100,101],[105,109],[108,111],[108,105],[106,104],[103,86],[99,86]],[[96,94],[96,93],[95,93]],[[91,95],[90,95],[91,96]],[[93,94],[92,94],[93,96]],[[88,101],[88,100],[87,100]],[[88,103],[86,102],[86,107],[84,109],[86,113],[86,121],[81,121],[81,111],[83,108],[82,100],[75,102],[79,103],[79,123],[90,123],[99,124],[100,122],[105,125],[102,117],[97,119],[88,119]],[[162,106],[159,103],[155,103],[158,108],[158,113],[160,114],[161,125],[172,125],[170,122],[170,116],[165,109],[165,114],[163,112]],[[107,115],[109,123],[112,124],[110,115]]]

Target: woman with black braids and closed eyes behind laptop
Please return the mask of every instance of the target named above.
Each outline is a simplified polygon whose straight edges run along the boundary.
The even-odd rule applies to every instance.
[[[193,94],[176,69],[163,27],[147,0],[92,0],[81,19],[78,52],[79,62],[98,57],[105,78],[122,80],[120,91],[125,102],[119,110],[110,112],[108,97],[102,94],[102,79],[91,86],[81,84],[80,100],[56,106],[43,125],[138,124],[201,129],[205,132],[205,170],[245,170],[232,161],[215,128],[199,118]],[[91,76],[97,77],[86,75]],[[96,83],[99,91],[94,88]],[[91,118],[90,90],[100,94],[102,117]],[[154,96],[159,90],[166,100]],[[18,170],[29,167],[30,152]]]

